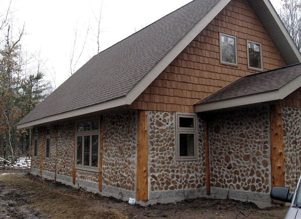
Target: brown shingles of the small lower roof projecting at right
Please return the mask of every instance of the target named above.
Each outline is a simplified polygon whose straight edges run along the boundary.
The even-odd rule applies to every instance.
[[[195,105],[278,90],[298,76],[301,76],[301,64],[248,75],[209,95]]]

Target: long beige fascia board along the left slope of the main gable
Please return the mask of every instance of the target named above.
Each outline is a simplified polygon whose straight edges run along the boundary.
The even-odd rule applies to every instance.
[[[204,18],[191,29],[191,31],[136,84],[126,95],[127,102],[131,104],[163,70],[195,39],[201,31],[220,13],[231,0],[221,0]]]

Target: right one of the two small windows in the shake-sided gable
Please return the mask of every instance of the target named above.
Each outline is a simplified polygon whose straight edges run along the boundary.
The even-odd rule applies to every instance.
[[[262,71],[262,47],[260,43],[247,40],[248,68]]]

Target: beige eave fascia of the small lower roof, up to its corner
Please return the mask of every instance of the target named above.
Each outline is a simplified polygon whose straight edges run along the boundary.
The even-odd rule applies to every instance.
[[[207,112],[207,111],[226,109],[226,108],[237,107],[237,106],[250,105],[255,103],[262,103],[262,102],[267,102],[272,100],[279,100],[279,99],[281,99],[279,90],[275,90],[271,92],[259,93],[250,96],[242,96],[238,98],[226,99],[217,102],[196,104],[195,112],[196,113]]]

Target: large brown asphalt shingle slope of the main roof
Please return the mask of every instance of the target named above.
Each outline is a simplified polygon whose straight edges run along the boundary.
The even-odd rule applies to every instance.
[[[220,0],[195,0],[91,58],[19,124],[125,96]]]

